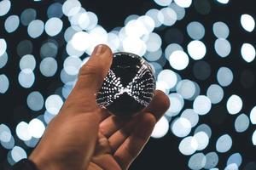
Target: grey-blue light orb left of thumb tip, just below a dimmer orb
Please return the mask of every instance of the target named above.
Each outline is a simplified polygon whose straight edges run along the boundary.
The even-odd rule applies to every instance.
[[[44,58],[39,66],[40,72],[44,77],[53,77],[58,69],[57,61],[54,58]]]

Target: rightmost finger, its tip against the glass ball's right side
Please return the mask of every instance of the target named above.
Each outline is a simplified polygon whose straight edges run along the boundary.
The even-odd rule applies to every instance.
[[[122,169],[128,168],[143,150],[143,146],[148,142],[155,123],[165,114],[169,105],[170,101],[166,94],[156,91],[154,99],[142,113],[143,116],[137,126],[133,128],[130,136],[124,140],[123,144],[114,153],[114,158],[119,162]]]

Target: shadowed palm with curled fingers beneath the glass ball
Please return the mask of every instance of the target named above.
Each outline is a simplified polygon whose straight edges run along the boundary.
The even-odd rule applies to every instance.
[[[130,119],[107,116],[100,123],[100,133],[89,169],[127,169],[147,143],[161,115],[143,111]]]

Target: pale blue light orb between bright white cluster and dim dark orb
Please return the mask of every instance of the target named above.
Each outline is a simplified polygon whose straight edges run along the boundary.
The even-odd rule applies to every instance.
[[[155,52],[161,47],[162,39],[158,34],[152,32],[149,34],[146,45],[147,45],[147,50],[149,52]]]

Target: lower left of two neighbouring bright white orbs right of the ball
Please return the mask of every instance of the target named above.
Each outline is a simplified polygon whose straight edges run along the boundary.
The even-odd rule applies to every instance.
[[[178,50],[170,55],[169,62],[172,68],[181,71],[189,65],[189,57],[185,52]]]

